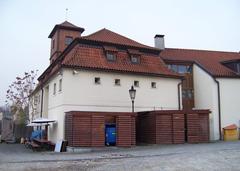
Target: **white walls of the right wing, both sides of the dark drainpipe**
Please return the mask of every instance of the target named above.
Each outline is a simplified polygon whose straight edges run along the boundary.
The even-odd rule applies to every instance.
[[[219,140],[218,88],[214,78],[197,65],[193,67],[196,109],[210,109],[210,140]],[[221,128],[240,120],[240,79],[217,78],[220,87]]]

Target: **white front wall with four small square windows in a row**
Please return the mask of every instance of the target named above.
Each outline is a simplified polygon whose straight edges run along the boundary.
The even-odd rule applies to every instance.
[[[63,74],[64,106],[69,110],[131,112],[128,90],[134,80],[140,84],[135,87],[135,111],[178,109],[180,80],[95,71],[74,75],[65,70]],[[95,77],[100,77],[100,85],[94,83]],[[120,86],[114,85],[115,79],[121,80]],[[156,82],[157,88],[151,88],[151,82]]]

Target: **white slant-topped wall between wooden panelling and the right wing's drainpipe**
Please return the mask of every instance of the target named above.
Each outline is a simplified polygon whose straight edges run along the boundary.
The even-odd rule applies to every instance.
[[[213,78],[194,64],[194,101],[196,109],[210,109],[210,140],[219,139],[218,94]]]

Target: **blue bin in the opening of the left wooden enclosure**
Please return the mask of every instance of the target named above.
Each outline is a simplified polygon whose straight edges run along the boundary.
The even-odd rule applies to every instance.
[[[106,145],[116,145],[116,125],[105,125]]]

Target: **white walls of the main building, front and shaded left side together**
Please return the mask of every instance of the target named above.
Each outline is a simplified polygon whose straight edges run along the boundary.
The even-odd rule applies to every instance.
[[[100,84],[95,84],[95,77]],[[115,85],[120,79],[120,85]],[[59,91],[62,80],[62,90]],[[43,117],[57,121],[49,127],[49,139],[64,139],[64,118],[68,111],[131,112],[128,90],[139,81],[135,99],[135,111],[177,110],[178,83],[180,79],[140,76],[111,72],[63,69],[44,87]],[[156,88],[151,83],[156,83]],[[56,93],[54,94],[54,84]]]

